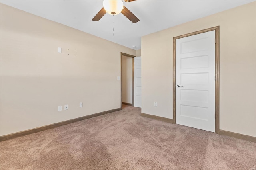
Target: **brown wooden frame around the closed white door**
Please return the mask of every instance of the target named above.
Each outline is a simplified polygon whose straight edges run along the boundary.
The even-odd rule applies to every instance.
[[[215,133],[220,131],[220,26],[173,37],[173,121],[176,124],[176,39],[215,31]]]

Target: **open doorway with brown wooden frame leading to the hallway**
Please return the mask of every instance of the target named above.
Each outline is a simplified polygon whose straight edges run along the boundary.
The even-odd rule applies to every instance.
[[[134,58],[121,53],[121,109],[122,104],[134,106]]]

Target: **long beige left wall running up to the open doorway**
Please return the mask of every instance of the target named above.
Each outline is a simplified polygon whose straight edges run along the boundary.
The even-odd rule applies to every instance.
[[[1,135],[120,108],[120,52],[136,55],[1,4]]]

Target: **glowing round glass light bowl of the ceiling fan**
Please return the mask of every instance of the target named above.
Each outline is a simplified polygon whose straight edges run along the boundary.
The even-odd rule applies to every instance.
[[[122,0],[104,0],[103,7],[108,14],[117,15],[124,8],[124,3]]]

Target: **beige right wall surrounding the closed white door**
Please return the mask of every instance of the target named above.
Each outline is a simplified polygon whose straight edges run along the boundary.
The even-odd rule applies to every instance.
[[[172,119],[173,37],[220,25],[220,129],[256,137],[255,3],[142,37],[142,113]]]

